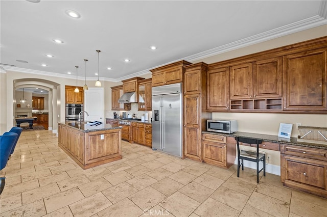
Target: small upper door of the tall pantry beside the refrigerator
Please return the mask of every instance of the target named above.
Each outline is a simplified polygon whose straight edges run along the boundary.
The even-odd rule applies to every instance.
[[[201,71],[185,70],[184,72],[184,94],[200,94],[201,93]]]

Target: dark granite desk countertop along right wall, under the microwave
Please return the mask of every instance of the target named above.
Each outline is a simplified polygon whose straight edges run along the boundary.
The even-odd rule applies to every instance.
[[[268,135],[268,134],[260,134],[260,133],[251,133],[251,132],[234,132],[234,133],[219,133],[219,132],[211,132],[211,131],[202,131],[202,133],[209,134],[218,134],[225,135],[227,137],[247,137],[253,139],[261,139],[262,141],[271,142],[271,143],[283,143],[288,145],[297,145],[302,147],[310,147],[310,148],[319,148],[327,150],[327,145],[318,144],[318,143],[306,143],[302,141],[298,141],[297,138],[291,137],[291,139],[277,137],[277,135]]]

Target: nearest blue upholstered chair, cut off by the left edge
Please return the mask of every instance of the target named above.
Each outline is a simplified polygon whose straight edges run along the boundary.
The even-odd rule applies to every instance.
[[[7,165],[10,151],[17,139],[17,133],[5,132],[0,136],[0,170],[4,169]],[[0,195],[5,187],[6,177],[0,177]]]

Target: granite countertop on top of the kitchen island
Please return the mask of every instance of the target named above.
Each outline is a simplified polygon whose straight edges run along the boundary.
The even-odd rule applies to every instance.
[[[83,132],[91,132],[91,131],[100,131],[100,130],[109,130],[109,129],[121,129],[121,126],[112,126],[111,124],[102,123],[99,125],[88,125],[87,122],[81,122],[78,124],[77,121],[65,121],[58,122],[59,124],[64,124],[68,127],[72,127],[74,129],[83,131]]]

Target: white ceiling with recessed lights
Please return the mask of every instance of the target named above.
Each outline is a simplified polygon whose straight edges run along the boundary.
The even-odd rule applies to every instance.
[[[83,79],[83,60],[88,59],[87,79],[97,79],[96,49],[100,49],[100,79],[114,82],[178,60],[192,62],[327,24],[326,1],[1,0],[0,4],[2,69],[76,78],[79,66]],[[66,10],[77,11],[81,18],[68,17]],[[64,43],[56,44],[55,38]],[[151,45],[157,49],[151,50]],[[125,58],[131,61],[125,63]],[[48,66],[42,67],[43,63]]]

